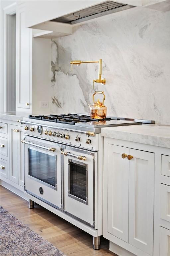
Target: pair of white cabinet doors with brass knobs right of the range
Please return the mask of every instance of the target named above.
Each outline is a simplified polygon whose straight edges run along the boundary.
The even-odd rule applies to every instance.
[[[153,255],[154,153],[106,141],[103,236],[133,254]]]

